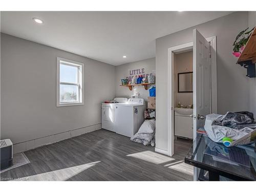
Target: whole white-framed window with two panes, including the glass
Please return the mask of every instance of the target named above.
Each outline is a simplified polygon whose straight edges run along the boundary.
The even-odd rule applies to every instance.
[[[82,105],[83,63],[57,57],[57,106]]]

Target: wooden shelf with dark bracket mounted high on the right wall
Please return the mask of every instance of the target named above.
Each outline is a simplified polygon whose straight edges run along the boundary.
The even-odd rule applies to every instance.
[[[254,27],[254,30],[248,39],[242,54],[238,58],[237,63],[247,69],[247,77],[256,77],[256,27]]]

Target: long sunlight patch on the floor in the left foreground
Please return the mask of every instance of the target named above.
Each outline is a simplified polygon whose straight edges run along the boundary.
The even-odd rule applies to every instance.
[[[68,168],[62,168],[58,170],[53,170],[52,172],[41,173],[37,175],[32,175],[24,178],[19,178],[20,181],[66,181],[75,175],[83,172],[84,170],[96,165],[100,161],[77,165]]]

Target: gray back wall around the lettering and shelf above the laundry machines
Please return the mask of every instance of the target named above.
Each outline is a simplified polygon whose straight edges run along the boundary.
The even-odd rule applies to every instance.
[[[136,92],[140,93],[140,98],[143,98],[147,101],[147,97],[150,96],[148,93],[148,90],[150,87],[148,87],[148,90],[145,90],[142,86],[135,86],[132,91],[129,90],[129,88],[126,87],[120,87],[122,78],[126,78],[130,76],[130,70],[135,69],[145,69],[145,74],[156,72],[156,58],[150,58],[145,60],[140,60],[136,62],[127,63],[121,66],[116,66],[116,97],[126,97],[131,98],[132,95],[134,95]]]

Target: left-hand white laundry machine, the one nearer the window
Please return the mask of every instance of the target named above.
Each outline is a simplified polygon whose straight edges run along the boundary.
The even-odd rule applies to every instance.
[[[125,103],[127,98],[114,98],[114,102]],[[117,103],[101,103],[101,128],[116,132],[115,106]]]

